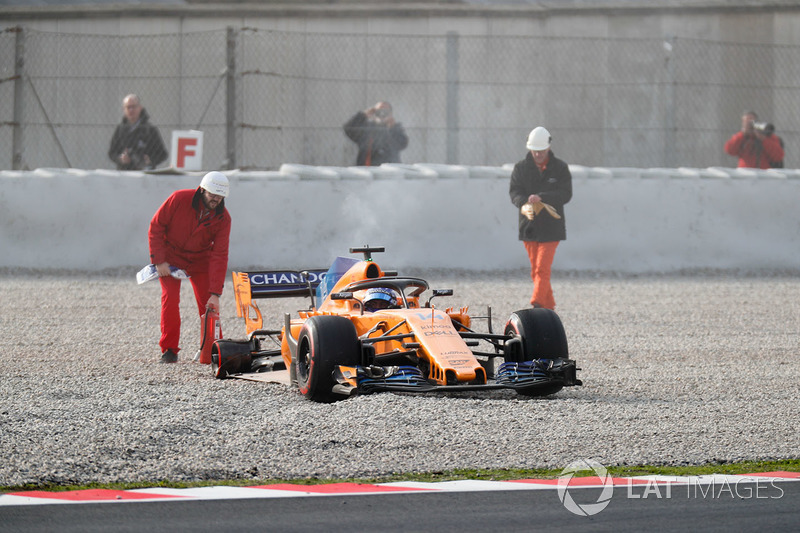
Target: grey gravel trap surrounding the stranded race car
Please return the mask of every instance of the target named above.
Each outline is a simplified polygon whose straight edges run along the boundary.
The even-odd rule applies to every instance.
[[[160,288],[137,286],[135,271],[0,271],[0,485],[377,477],[582,458],[691,465],[800,450],[794,275],[557,272],[583,387],[324,405],[193,363],[200,320],[188,283],[184,349],[160,364]],[[531,290],[521,271],[403,274],[452,288],[439,305],[491,306],[495,332]],[[277,328],[308,300],[259,304]],[[225,337],[244,337],[230,282],[221,316]]]

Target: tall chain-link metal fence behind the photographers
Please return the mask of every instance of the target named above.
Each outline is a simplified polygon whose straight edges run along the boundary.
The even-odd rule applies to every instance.
[[[0,168],[114,168],[137,93],[169,147],[204,132],[204,166],[349,166],[342,125],[379,100],[410,138],[406,163],[501,165],[534,126],[570,163],[735,166],[744,110],[773,122],[795,167],[800,46],[697,39],[298,33],[239,28],[103,36],[0,34]]]

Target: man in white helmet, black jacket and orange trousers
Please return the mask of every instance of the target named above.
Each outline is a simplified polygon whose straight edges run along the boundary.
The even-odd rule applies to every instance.
[[[572,198],[569,166],[550,150],[550,132],[531,131],[525,159],[514,165],[509,195],[519,210],[519,240],[531,262],[531,305],[555,309],[550,270],[559,242],[567,238],[564,204]]]

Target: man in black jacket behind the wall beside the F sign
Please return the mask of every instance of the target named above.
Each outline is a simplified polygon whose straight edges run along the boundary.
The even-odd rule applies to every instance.
[[[139,97],[129,94],[122,100],[122,122],[114,130],[108,157],[117,170],[149,170],[167,159],[167,148],[158,128],[150,124],[150,116]]]

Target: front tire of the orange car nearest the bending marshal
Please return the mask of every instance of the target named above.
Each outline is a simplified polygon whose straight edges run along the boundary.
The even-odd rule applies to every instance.
[[[300,329],[297,356],[293,366],[297,388],[315,402],[335,402],[347,396],[333,392],[333,371],[338,365],[356,366],[360,362],[360,342],[356,327],[342,316],[312,316]]]

